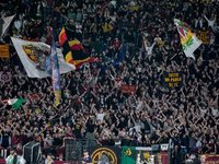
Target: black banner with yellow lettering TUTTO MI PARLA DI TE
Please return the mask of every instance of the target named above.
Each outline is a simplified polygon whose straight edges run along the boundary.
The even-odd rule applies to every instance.
[[[164,87],[178,87],[183,85],[182,72],[163,72],[163,86]]]

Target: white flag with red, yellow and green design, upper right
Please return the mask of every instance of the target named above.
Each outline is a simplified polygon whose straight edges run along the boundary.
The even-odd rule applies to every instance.
[[[181,44],[186,57],[191,57],[195,59],[193,52],[201,45],[201,40],[199,40],[189,30],[187,23],[182,22],[180,20],[174,19],[174,24],[177,27]]]

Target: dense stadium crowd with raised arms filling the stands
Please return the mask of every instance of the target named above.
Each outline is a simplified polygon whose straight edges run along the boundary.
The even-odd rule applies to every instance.
[[[43,154],[65,156],[65,141],[87,145],[150,147],[174,142],[172,161],[187,152],[219,154],[219,5],[218,1],[183,0],[9,0],[1,17],[16,14],[2,43],[10,58],[1,70],[12,71],[0,83],[1,149],[41,142]],[[193,33],[210,31],[195,60],[186,58],[173,19]],[[50,78],[31,79],[10,40],[39,38],[58,43],[62,27],[97,59],[61,74],[61,104],[55,106]],[[70,38],[69,38],[70,39]],[[163,72],[183,72],[181,87],[164,87]],[[122,84],[136,85],[123,94]],[[30,93],[42,94],[33,101]],[[1,103],[24,98],[16,110]],[[37,109],[37,110],[36,110]],[[53,151],[55,150],[55,151]]]

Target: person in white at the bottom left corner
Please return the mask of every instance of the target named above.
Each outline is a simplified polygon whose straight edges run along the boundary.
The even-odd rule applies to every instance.
[[[25,160],[18,155],[13,148],[9,149],[10,155],[5,159],[7,164],[25,164]]]

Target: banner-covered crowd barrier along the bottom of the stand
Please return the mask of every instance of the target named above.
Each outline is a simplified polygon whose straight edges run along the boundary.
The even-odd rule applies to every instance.
[[[66,144],[66,163],[70,161],[81,162],[84,150],[92,157],[92,164],[170,164],[171,149],[169,143],[152,147],[87,147],[73,144],[73,142]]]

